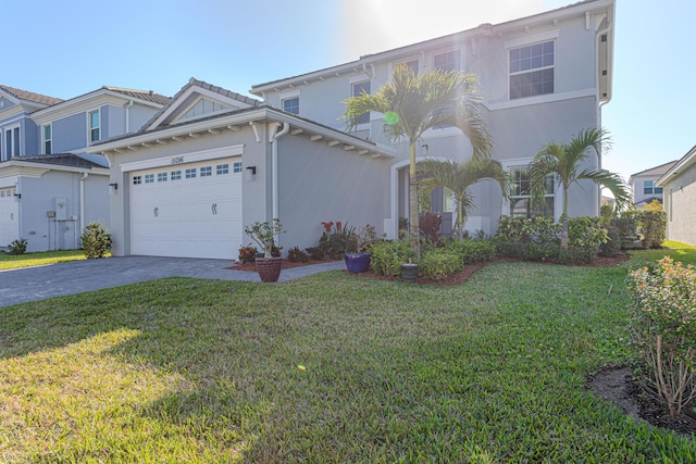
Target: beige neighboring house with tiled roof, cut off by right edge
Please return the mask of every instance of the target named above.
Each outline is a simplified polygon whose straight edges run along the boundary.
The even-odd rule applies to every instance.
[[[696,246],[696,146],[656,185],[666,193],[667,239]]]

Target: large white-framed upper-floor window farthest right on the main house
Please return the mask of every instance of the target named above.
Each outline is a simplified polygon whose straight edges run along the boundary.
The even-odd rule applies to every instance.
[[[554,93],[554,43],[510,50],[510,100]]]

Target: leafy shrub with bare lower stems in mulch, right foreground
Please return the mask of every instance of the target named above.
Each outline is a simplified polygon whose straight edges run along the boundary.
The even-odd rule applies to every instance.
[[[696,396],[696,268],[664,256],[629,273],[629,293],[642,380],[674,418]]]

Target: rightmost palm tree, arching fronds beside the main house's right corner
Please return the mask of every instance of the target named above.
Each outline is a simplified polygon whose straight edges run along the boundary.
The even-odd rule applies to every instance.
[[[550,142],[544,146],[530,165],[530,180],[532,201],[540,203],[547,192],[547,178],[551,176],[556,184],[563,189],[563,214],[561,231],[561,248],[568,249],[568,190],[570,186],[583,179],[594,181],[600,187],[609,189],[617,200],[617,208],[621,209],[631,203],[631,197],[623,179],[608,171],[581,166],[589,159],[593,148],[597,156],[601,150],[611,147],[609,135],[604,129],[581,130],[570,143]],[[579,172],[580,171],[580,172]]]

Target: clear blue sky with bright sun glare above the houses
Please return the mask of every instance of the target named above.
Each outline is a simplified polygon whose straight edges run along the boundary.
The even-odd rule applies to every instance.
[[[103,85],[173,96],[190,77],[251,85],[500,23],[573,0],[2,1],[0,83],[58,98]],[[427,7],[427,8],[426,8]],[[696,2],[617,0],[613,139],[604,165],[629,175],[696,145]]]

